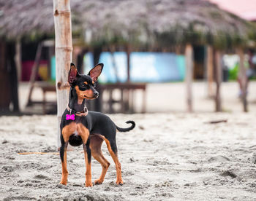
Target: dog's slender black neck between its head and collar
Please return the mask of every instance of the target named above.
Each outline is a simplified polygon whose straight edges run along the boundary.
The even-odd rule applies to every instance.
[[[86,106],[86,99],[78,98],[75,88],[70,87],[69,90],[69,108],[74,111],[83,111]]]

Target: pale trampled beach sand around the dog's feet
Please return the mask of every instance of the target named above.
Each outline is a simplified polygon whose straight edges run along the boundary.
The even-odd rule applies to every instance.
[[[110,168],[102,185],[86,188],[83,148],[67,153],[68,184],[59,184],[56,117],[0,117],[0,200],[255,200],[256,124],[253,113],[115,114],[123,186]],[[227,122],[208,124],[217,119]],[[44,151],[49,154],[20,155]],[[254,154],[255,153],[255,154]],[[92,179],[101,166],[92,159]]]

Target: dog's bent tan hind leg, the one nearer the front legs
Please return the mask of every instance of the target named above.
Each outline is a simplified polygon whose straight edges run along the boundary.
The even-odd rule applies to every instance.
[[[102,154],[102,142],[103,139],[99,135],[94,135],[91,137],[90,147],[91,147],[91,155],[94,159],[102,165],[102,173],[97,180],[94,181],[94,184],[102,184],[104,181],[105,175],[108,171],[108,167],[110,166],[110,162]]]

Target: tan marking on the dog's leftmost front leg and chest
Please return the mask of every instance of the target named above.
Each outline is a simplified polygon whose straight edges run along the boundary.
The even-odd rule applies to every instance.
[[[69,141],[70,135],[74,133],[76,130],[76,124],[75,122],[72,122],[69,125],[66,125],[64,128],[62,128],[62,136],[64,138],[65,146],[64,146],[64,160],[61,160],[61,166],[62,166],[62,176],[61,176],[61,182],[60,184],[67,185],[67,144]]]

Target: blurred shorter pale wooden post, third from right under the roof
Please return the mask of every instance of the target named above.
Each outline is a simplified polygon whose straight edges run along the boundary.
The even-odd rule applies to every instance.
[[[214,50],[211,46],[207,46],[206,50],[206,68],[207,68],[207,92],[208,97],[214,97]]]

